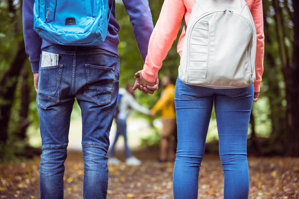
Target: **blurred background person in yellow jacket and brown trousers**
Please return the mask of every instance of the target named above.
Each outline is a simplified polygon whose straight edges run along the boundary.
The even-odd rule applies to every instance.
[[[150,116],[161,111],[162,116],[162,132],[160,141],[160,156],[159,162],[173,161],[175,159],[174,153],[174,133],[176,133],[176,116],[174,107],[174,90],[175,86],[172,84],[171,78],[166,76],[162,79],[162,86],[164,91],[161,98],[156,102],[150,111]]]

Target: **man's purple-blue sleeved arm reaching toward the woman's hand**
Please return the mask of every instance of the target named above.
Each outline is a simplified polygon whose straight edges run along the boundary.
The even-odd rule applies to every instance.
[[[123,0],[130,22],[133,25],[142,59],[145,61],[148,54],[149,37],[153,30],[152,17],[148,0]]]

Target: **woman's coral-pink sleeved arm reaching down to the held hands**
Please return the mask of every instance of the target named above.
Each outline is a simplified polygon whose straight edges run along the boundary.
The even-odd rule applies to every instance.
[[[143,78],[153,83],[177,37],[185,13],[183,0],[165,0],[159,19],[149,40],[148,56],[142,71]]]

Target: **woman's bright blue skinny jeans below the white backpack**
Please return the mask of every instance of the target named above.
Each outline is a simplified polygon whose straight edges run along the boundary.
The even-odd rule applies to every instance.
[[[199,168],[213,105],[224,171],[224,199],[248,198],[247,133],[253,96],[253,85],[242,89],[210,89],[177,80],[174,199],[197,199]]]

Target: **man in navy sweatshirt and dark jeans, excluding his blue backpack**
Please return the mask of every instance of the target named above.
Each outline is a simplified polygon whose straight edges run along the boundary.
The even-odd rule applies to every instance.
[[[123,0],[130,15],[143,60],[153,30],[148,0]],[[63,198],[64,161],[67,156],[70,116],[75,98],[82,110],[84,199],[106,199],[109,132],[119,89],[119,24],[115,2],[106,41],[100,46],[62,46],[42,40],[33,30],[34,0],[23,0],[23,31],[37,92],[42,155],[41,199]],[[75,1],[72,1],[75,3]],[[58,55],[49,65],[43,54]],[[44,60],[43,60],[44,59]]]

